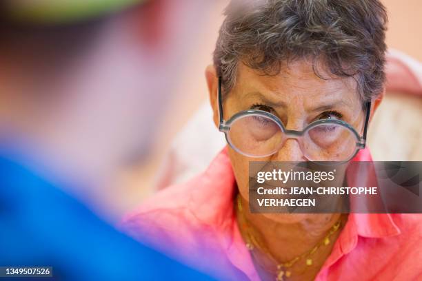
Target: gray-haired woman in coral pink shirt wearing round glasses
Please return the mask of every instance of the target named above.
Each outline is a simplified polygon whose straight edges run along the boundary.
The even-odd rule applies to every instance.
[[[224,280],[422,278],[418,215],[252,214],[248,204],[252,160],[371,160],[365,136],[385,83],[383,5],[232,1],[225,15],[205,76],[228,147],[123,227]]]

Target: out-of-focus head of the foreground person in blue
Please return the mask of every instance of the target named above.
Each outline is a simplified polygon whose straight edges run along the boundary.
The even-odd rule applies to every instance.
[[[0,134],[98,175],[145,159],[187,51],[190,7],[39,0],[0,10]]]

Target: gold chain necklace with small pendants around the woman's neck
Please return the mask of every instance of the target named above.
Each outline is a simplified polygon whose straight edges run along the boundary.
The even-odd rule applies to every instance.
[[[328,244],[330,244],[331,240],[330,237],[336,233],[337,230],[340,229],[341,227],[341,217],[339,218],[339,220],[337,220],[336,223],[334,223],[334,225],[331,227],[330,231],[328,231],[327,235],[325,235],[325,237],[323,238],[323,240],[321,240],[321,242],[319,242],[318,244],[315,245],[315,247],[313,247],[312,249],[310,249],[310,251],[307,251],[305,253],[302,253],[299,256],[296,256],[295,258],[292,258],[292,260],[289,260],[288,262],[282,262],[279,263],[277,262],[277,260],[272,256],[272,253],[268,250],[268,247],[265,247],[264,243],[260,243],[257,238],[255,238],[252,233],[250,233],[250,226],[248,225],[248,220],[246,220],[245,215],[243,214],[243,207],[242,207],[242,202],[241,202],[241,198],[239,196],[239,194],[237,195],[237,209],[239,210],[239,214],[241,214],[241,219],[243,220],[243,227],[245,229],[245,233],[246,233],[246,247],[252,251],[254,249],[254,247],[257,247],[258,249],[261,249],[261,251],[263,251],[265,254],[267,254],[271,260],[274,261],[275,264],[277,264],[277,271],[276,271],[276,280],[282,281],[285,280],[285,278],[290,278],[290,276],[292,275],[292,271],[289,270],[291,267],[293,267],[294,264],[296,264],[297,262],[299,262],[299,260],[302,260],[303,258],[305,259],[305,264],[307,266],[311,266],[312,265],[312,255],[322,246],[325,245],[327,246]],[[261,265],[261,264],[260,264]],[[262,266],[262,265],[261,265]]]

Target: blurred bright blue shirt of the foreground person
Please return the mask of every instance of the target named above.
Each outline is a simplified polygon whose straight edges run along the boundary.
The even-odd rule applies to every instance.
[[[45,279],[50,281],[211,280],[125,236],[78,200],[2,156],[0,266],[50,266],[53,278]]]

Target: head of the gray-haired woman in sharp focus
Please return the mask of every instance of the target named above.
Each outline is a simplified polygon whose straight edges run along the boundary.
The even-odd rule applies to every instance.
[[[262,110],[285,129],[333,119],[363,133],[364,105],[374,101],[372,110],[378,107],[385,81],[387,17],[379,1],[232,1],[225,16],[214,65],[206,70],[217,126],[221,77],[225,121],[243,110]],[[268,132],[259,118],[245,125],[257,136]],[[249,161],[309,160],[294,138],[270,156],[250,158],[232,147],[229,156],[243,198]]]

